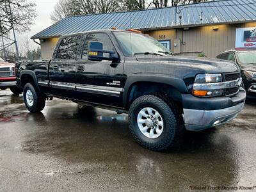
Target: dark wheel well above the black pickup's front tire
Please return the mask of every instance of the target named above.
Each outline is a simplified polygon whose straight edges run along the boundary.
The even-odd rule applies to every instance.
[[[181,93],[173,86],[164,83],[137,82],[131,85],[126,100],[126,108],[129,109],[132,102],[142,95],[157,95],[170,106],[182,109]]]

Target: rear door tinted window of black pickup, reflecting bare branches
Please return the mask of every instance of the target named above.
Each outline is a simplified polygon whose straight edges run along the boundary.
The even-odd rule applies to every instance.
[[[61,40],[60,47],[56,54],[56,59],[74,60],[77,55],[77,48],[81,36],[68,36]]]

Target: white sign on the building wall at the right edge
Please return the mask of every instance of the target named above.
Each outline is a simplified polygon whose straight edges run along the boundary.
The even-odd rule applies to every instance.
[[[256,27],[236,29],[236,48],[256,49]]]

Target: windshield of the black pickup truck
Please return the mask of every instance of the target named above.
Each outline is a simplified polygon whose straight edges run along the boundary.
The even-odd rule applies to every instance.
[[[143,53],[157,55],[171,54],[164,45],[148,35],[119,31],[114,32],[114,34],[126,56]]]

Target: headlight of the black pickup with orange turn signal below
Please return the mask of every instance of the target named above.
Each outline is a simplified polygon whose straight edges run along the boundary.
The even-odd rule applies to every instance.
[[[209,84],[209,87],[211,87],[212,83],[220,83],[222,81],[221,74],[198,74],[195,78],[195,84],[197,86],[193,86],[193,95],[199,96],[199,97],[218,97],[223,94],[222,89],[218,90],[202,90],[202,89],[196,89],[198,85],[204,84],[207,86]]]

